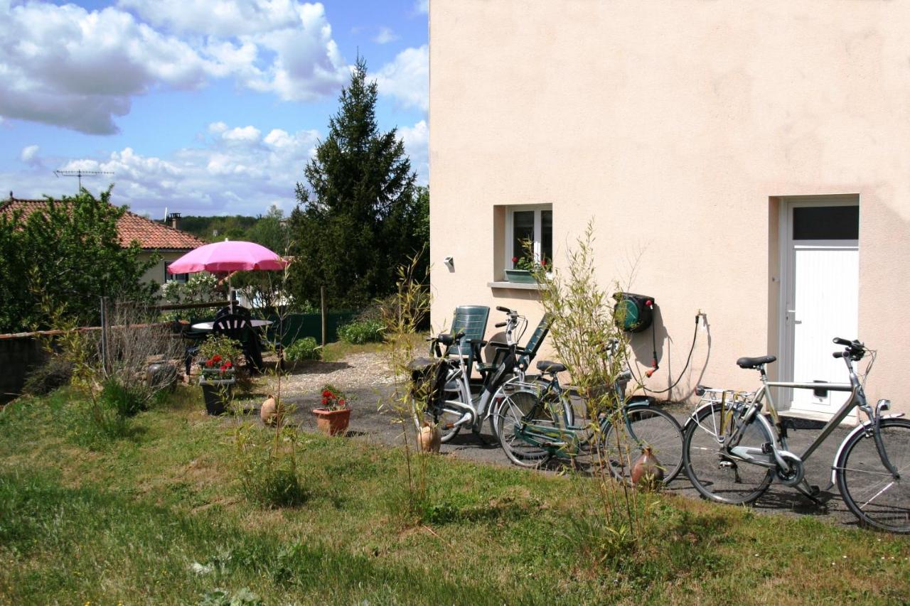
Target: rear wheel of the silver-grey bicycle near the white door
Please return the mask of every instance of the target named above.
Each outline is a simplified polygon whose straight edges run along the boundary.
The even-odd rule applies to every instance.
[[[727,414],[729,414],[727,408]],[[686,475],[705,499],[741,505],[762,496],[773,479],[773,470],[733,458],[718,439],[723,436],[721,405],[713,404],[696,411],[690,419],[682,442],[682,464]],[[760,449],[772,441],[768,429],[753,419],[743,428],[739,446]]]

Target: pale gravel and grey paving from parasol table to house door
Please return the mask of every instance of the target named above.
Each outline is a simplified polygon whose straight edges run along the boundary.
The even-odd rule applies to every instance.
[[[356,354],[343,362],[309,363],[295,370],[291,377],[285,380],[282,388],[284,399],[296,406],[294,417],[303,429],[316,430],[316,422],[310,414],[310,409],[318,406],[319,389],[325,383],[332,383],[345,390],[351,397],[349,438],[384,445],[401,444],[401,425],[394,422],[396,414],[388,409],[379,409],[380,403],[389,401],[394,389],[389,373],[377,354]],[[672,409],[681,424],[691,411],[691,408]],[[819,508],[793,489],[773,483],[762,499],[754,504],[754,509],[774,514],[812,515],[834,523],[855,526],[856,520],[846,509],[836,487],[828,486],[831,481],[834,453],[846,432],[847,429],[835,429],[806,462],[805,477],[811,484],[822,489],[819,498],[825,500],[824,507]],[[470,432],[462,430],[450,443],[442,445],[441,453],[482,463],[510,465],[502,449],[492,445],[490,429],[485,427],[481,435],[487,444],[481,443]],[[791,429],[790,449],[796,453],[803,452],[817,435],[818,429]],[[684,473],[673,480],[667,490],[672,494],[700,498]]]

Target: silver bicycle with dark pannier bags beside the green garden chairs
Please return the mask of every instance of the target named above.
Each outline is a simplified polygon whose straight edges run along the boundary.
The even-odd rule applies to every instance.
[[[424,414],[432,424],[440,428],[440,441],[443,443],[458,435],[462,427],[469,427],[480,438],[480,429],[488,419],[490,430],[499,439],[492,413],[498,409],[498,403],[502,399],[514,393],[513,385],[524,381],[525,363],[519,359],[517,343],[527,327],[527,319],[514,309],[497,309],[507,317],[506,321],[495,325],[496,328],[505,328],[506,344],[504,347],[492,344],[496,354],[489,365],[484,365],[487,369],[477,386],[479,389],[472,389],[475,384],[464,359],[459,355],[449,356],[440,349],[440,345],[450,348],[462,335],[442,333],[429,339],[430,355],[439,364],[436,372],[439,373],[437,377],[440,379],[440,387],[430,397]],[[519,333],[517,338],[516,332]],[[483,345],[486,342],[480,343],[480,347]],[[574,419],[571,403],[567,404],[570,409],[564,409],[562,415]]]

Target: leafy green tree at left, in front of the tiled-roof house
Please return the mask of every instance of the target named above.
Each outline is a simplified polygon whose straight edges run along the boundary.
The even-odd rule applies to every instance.
[[[109,189],[99,198],[83,189],[48,197],[28,217],[0,215],[0,332],[53,328],[52,316],[97,325],[101,296],[152,298],[157,285],[140,280],[156,261],[140,261],[135,242],[120,245],[117,221],[125,212],[110,204]]]

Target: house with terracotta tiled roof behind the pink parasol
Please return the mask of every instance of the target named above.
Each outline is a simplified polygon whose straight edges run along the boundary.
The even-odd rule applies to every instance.
[[[24,200],[10,196],[6,200],[0,201],[0,213],[12,213],[16,209],[21,209],[23,215],[27,217],[35,210],[40,210],[47,204],[46,200]],[[120,233],[120,242],[123,246],[129,246],[134,240],[142,247],[142,253],[139,255],[141,261],[147,261],[151,258],[158,258],[158,261],[151,268],[148,268],[142,279],[147,282],[157,282],[164,284],[171,280],[187,281],[187,274],[168,274],[167,265],[171,261],[177,260],[187,254],[193,248],[201,247],[206,244],[192,234],[180,231],[179,213],[171,213],[168,217],[170,225],[165,225],[146,217],[140,217],[136,213],[128,210],[120,217],[117,223],[117,229]]]

